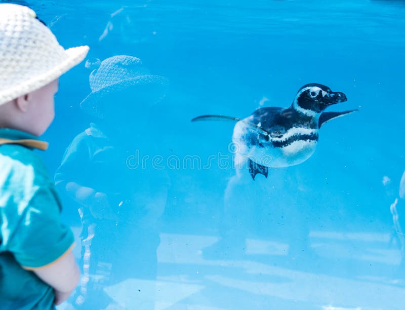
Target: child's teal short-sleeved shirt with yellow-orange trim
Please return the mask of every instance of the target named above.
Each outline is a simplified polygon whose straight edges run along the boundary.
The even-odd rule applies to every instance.
[[[5,139],[38,141],[25,132],[0,129],[0,141]],[[2,310],[55,308],[52,287],[31,270],[55,262],[73,246],[73,234],[61,223],[60,212],[53,180],[33,147],[0,145]]]

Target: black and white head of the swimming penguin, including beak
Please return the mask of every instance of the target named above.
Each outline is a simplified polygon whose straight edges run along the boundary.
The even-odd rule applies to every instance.
[[[328,106],[346,101],[344,93],[334,93],[332,90],[321,84],[307,84],[300,88],[295,97],[293,107],[307,115],[316,115]]]

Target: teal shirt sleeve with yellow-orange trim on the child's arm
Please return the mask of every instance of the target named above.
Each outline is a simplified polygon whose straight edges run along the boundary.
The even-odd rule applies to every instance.
[[[8,250],[23,268],[45,267],[72,248],[73,233],[61,223],[60,210],[53,184],[39,187],[21,210]]]

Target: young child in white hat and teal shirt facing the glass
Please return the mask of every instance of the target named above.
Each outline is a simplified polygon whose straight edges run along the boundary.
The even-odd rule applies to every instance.
[[[87,55],[64,50],[24,6],[0,4],[0,308],[54,309],[77,285],[73,234],[33,149],[54,119],[58,78]]]

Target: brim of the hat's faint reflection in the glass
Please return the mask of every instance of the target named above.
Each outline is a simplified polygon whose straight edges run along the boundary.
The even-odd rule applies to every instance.
[[[169,87],[169,79],[159,75],[140,75],[109,85],[90,93],[82,102],[80,108],[98,119],[105,119],[110,115],[109,109],[118,109],[118,101],[127,96],[131,101],[129,107],[136,109],[137,104],[153,105],[165,97]],[[121,106],[122,107],[122,106]],[[127,107],[128,109],[128,107]]]

